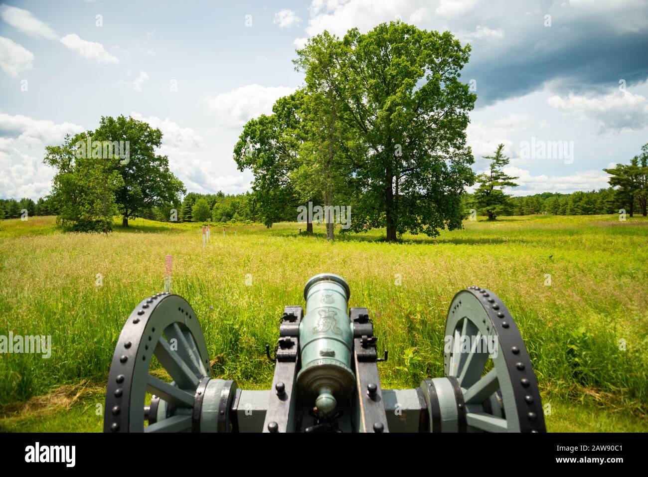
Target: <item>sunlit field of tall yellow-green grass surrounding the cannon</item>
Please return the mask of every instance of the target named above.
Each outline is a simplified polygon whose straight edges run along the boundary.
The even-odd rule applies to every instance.
[[[117,223],[117,222],[115,222]],[[384,388],[443,375],[448,305],[490,288],[520,327],[550,431],[648,431],[648,220],[524,216],[465,222],[435,239],[384,231],[325,240],[303,224],[213,229],[147,220],[109,235],[64,234],[53,217],[0,222],[0,335],[52,336],[52,356],[0,355],[0,430],[100,430],[110,360],[126,316],[163,289],[201,320],[216,377],[272,382],[265,343],[312,275],[338,273],[369,308]],[[97,285],[97,273],[102,285]],[[251,286],[246,275],[251,275]],[[546,274],[551,285],[546,286]],[[400,275],[401,285],[395,285]]]

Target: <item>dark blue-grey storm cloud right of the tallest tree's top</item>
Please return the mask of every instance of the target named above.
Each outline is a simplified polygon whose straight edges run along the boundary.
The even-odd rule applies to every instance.
[[[619,80],[627,86],[643,82],[648,78],[648,2],[641,8],[632,5],[634,10],[621,12],[553,14],[551,27],[544,27],[540,11],[523,15],[517,25],[509,17],[503,38],[468,40],[472,52],[463,80],[477,81],[478,106],[526,95],[547,83],[563,94],[610,91]],[[625,23],[629,16],[634,16],[631,24]],[[494,18],[491,25],[500,27]]]

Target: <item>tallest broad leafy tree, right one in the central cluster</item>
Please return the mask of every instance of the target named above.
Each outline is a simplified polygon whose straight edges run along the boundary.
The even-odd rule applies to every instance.
[[[340,99],[365,154],[354,162],[351,229],[435,236],[461,227],[474,183],[466,145],[476,95],[459,80],[470,46],[400,21],[343,38]]]

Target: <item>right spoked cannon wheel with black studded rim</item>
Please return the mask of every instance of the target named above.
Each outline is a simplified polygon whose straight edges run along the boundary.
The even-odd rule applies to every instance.
[[[472,340],[462,341],[462,336]],[[546,431],[529,353],[494,293],[471,286],[456,294],[448,310],[444,351],[445,376],[456,380],[463,395],[463,430]]]

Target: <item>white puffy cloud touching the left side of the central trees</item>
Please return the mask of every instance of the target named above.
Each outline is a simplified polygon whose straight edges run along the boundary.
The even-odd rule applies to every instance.
[[[243,126],[249,119],[260,114],[272,113],[272,105],[283,96],[295,91],[294,87],[265,87],[249,84],[218,95],[203,98],[207,108],[218,116],[219,121],[231,127]]]

